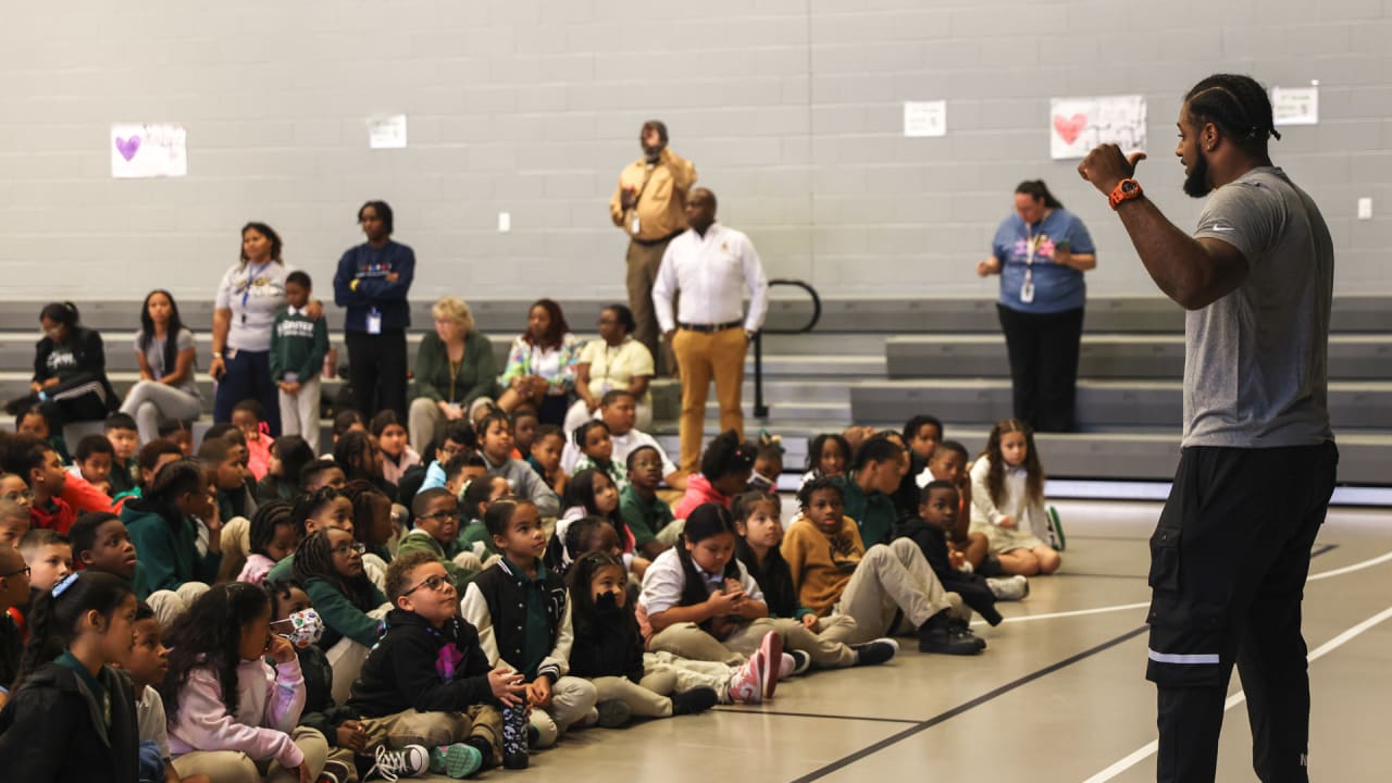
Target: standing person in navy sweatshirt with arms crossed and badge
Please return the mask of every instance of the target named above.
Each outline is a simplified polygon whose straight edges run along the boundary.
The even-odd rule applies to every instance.
[[[367,241],[338,259],[334,301],[347,308],[344,343],[354,401],[363,417],[397,411],[406,419],[406,294],[416,276],[416,254],[391,241],[393,215],[384,201],[358,209]],[[418,449],[425,444],[418,443]]]

